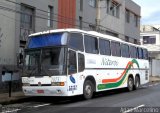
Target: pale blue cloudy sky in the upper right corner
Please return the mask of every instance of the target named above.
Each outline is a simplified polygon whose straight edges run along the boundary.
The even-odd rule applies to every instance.
[[[132,0],[141,6],[141,24],[160,24],[160,0]]]

